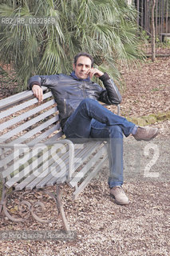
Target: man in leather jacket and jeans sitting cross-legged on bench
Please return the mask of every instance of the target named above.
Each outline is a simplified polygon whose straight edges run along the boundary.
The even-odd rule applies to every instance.
[[[96,76],[105,87],[91,81]],[[97,138],[109,141],[110,194],[120,205],[128,204],[123,184],[123,135],[132,134],[136,140],[150,140],[158,134],[157,128],[138,127],[125,118],[113,114],[98,101],[106,104],[121,103],[121,94],[108,74],[93,68],[93,57],[79,53],[74,57],[70,75],[36,75],[28,85],[42,102],[42,88],[52,90],[61,119],[61,127],[67,138]]]

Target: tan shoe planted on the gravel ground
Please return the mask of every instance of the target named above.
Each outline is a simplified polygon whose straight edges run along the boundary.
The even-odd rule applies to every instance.
[[[125,191],[121,186],[113,186],[113,188],[110,190],[110,195],[115,198],[115,202],[118,205],[128,205],[128,197],[125,194]]]

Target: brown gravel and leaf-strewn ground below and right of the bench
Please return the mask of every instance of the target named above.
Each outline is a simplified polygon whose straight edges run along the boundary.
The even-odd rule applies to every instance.
[[[141,117],[170,110],[170,58],[148,58],[140,68],[121,67],[126,88],[122,92],[121,114]],[[110,110],[115,111],[113,107]],[[73,190],[62,190],[65,214],[73,241],[2,240],[0,255],[36,256],[169,256],[170,255],[170,121],[155,122],[160,134],[152,142],[125,139],[125,184],[130,203],[118,206],[109,196],[109,168],[85,188],[73,201]],[[151,150],[151,152],[149,151]],[[148,169],[147,169],[148,168]],[[155,178],[150,174],[158,174]],[[149,176],[149,175],[148,175]],[[51,188],[53,190],[53,188]],[[50,215],[57,218],[54,202]],[[31,218],[24,223],[0,217],[6,230],[61,230],[61,221],[39,224]]]

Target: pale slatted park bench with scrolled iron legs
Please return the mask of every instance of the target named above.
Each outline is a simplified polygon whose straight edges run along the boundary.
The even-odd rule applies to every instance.
[[[56,210],[60,213],[65,230],[69,230],[61,203],[60,186],[67,182],[75,189],[73,198],[76,199],[107,161],[107,142],[89,140],[83,144],[73,144],[65,139],[57,104],[51,92],[45,87],[43,90],[44,100],[41,104],[29,90],[0,101],[0,213],[6,214],[12,221],[24,222],[23,207],[17,208],[19,218],[8,210],[8,191],[12,191],[12,194],[21,190],[46,191],[47,187],[55,185],[56,194],[50,196],[57,202]],[[32,206],[26,200],[22,204],[30,211],[29,216],[32,215],[39,222],[49,222],[33,210],[35,204]],[[42,207],[42,202],[38,204]]]

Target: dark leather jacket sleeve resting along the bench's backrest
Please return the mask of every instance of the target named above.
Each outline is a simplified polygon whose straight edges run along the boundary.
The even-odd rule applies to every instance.
[[[52,74],[52,75],[34,75],[28,80],[28,89],[32,89],[32,86],[38,85],[38,86],[46,86],[50,89],[53,88],[53,86],[56,86],[57,82],[59,81],[59,75],[58,74]]]

